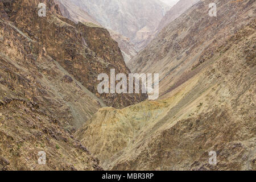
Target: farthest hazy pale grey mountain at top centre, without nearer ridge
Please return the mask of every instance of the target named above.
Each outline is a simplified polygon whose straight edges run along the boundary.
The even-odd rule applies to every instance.
[[[102,26],[130,39],[139,48],[170,9],[158,0],[61,0],[72,2]]]

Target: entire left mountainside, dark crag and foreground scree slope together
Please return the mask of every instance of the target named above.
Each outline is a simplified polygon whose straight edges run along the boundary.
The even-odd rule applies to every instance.
[[[117,42],[105,28],[64,18],[53,0],[0,1],[0,27],[0,169],[101,169],[74,131],[100,107],[143,100],[97,94],[98,74],[129,73]]]

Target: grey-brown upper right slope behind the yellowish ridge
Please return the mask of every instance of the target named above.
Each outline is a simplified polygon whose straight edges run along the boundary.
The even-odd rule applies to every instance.
[[[132,72],[159,73],[159,94],[165,98],[168,92],[200,72],[199,65],[254,17],[254,6],[246,2],[218,2],[217,17],[208,15],[209,1],[197,3],[163,28],[128,67]],[[254,1],[249,3],[254,5]],[[240,9],[243,5],[247,12]]]

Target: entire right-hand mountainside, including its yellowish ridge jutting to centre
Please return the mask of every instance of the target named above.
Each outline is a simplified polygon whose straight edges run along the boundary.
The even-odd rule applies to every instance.
[[[75,137],[108,170],[255,170],[255,1],[197,3],[131,65],[161,100],[105,107]],[[209,164],[209,152],[217,165]]]

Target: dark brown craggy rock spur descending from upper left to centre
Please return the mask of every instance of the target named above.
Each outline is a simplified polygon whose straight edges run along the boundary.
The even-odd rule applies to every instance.
[[[100,81],[97,81],[97,77],[100,73],[110,74],[112,68],[116,73],[130,72],[123,61],[118,43],[111,38],[105,28],[92,23],[75,24],[61,15],[48,14],[46,18],[40,18],[34,12],[28,17],[24,15],[25,10],[20,11],[23,14],[15,14],[13,11],[9,14],[11,21],[16,23],[15,26],[32,40],[42,43],[42,47],[46,48],[46,52],[53,60],[90,92],[102,98],[106,105],[129,106],[146,98],[139,94],[98,94],[97,84]],[[21,18],[22,16],[24,18]]]

